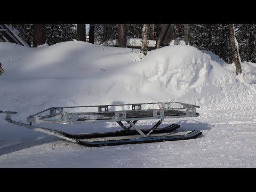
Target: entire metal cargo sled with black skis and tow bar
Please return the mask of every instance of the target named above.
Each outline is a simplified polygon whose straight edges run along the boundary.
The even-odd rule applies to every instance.
[[[11,119],[11,114],[17,114],[17,112],[0,111],[0,113],[6,114],[5,120],[9,123],[25,126],[29,129],[33,129],[34,131],[54,135],[65,140],[78,143],[79,145],[100,147],[194,139],[201,135],[202,132],[194,130],[189,133],[174,135],[171,134],[171,132],[180,127],[177,124],[172,124],[163,128],[157,127],[165,118],[199,116],[199,114],[196,113],[196,108],[199,108],[199,106],[181,102],[51,107],[27,117],[27,122],[29,122],[29,124],[13,121]],[[146,119],[158,119],[158,122],[151,127],[151,129],[140,129],[135,125],[138,121]],[[34,123],[75,124],[92,122],[116,122],[123,128],[123,130],[106,133],[69,134],[33,125]],[[123,122],[126,122],[128,126],[124,125]]]

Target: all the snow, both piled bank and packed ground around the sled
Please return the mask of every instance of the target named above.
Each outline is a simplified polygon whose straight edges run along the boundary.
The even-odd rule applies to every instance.
[[[165,119],[174,133],[198,129],[193,140],[88,148],[9,124],[0,116],[0,167],[256,167],[256,65],[234,63],[190,45],[150,51],[62,42],[30,48],[0,43],[0,110],[15,121],[49,107],[180,101],[199,117]],[[138,122],[148,127],[156,122]],[[115,122],[41,124],[69,133],[119,130]]]

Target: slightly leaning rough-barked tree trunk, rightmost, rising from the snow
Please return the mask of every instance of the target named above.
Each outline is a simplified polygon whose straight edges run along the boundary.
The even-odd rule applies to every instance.
[[[230,41],[231,49],[233,52],[233,60],[236,66],[236,75],[238,75],[239,73],[242,73],[242,68],[241,68],[241,59],[239,55],[239,47],[236,41],[233,24],[229,24],[229,41]]]

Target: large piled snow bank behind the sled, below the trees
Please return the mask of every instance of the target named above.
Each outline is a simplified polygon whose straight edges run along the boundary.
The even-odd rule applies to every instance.
[[[78,41],[39,48],[0,43],[0,60],[0,109],[23,111],[20,121],[52,106],[176,100],[207,107],[255,98],[249,85],[189,45],[143,57],[139,50]]]

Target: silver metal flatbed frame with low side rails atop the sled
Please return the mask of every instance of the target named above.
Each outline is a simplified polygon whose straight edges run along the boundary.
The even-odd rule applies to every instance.
[[[171,107],[172,103],[178,103],[180,107]],[[158,105],[160,109],[142,109],[143,105]],[[110,110],[110,107],[114,106],[130,106],[132,110]],[[97,108],[98,111],[91,111],[91,112],[71,112],[67,113],[64,109],[78,109],[78,108]],[[199,106],[190,105],[187,103],[181,102],[152,102],[152,103],[133,103],[133,104],[120,104],[120,105],[95,105],[95,106],[77,106],[77,107],[51,107],[40,111],[34,115],[30,115],[27,118],[27,122],[29,123],[61,123],[61,124],[68,124],[68,123],[92,123],[92,122],[119,122],[119,121],[138,121],[138,120],[145,120],[145,119],[164,119],[164,118],[179,118],[179,117],[196,117],[199,116],[196,113],[196,108]],[[105,110],[102,110],[105,109]],[[176,113],[171,116],[165,116],[165,112],[174,110],[177,112],[181,112],[179,110],[186,109],[183,111],[182,114]],[[49,115],[41,115],[46,111],[49,111]],[[144,113],[152,111],[149,116],[143,116]],[[127,113],[139,115],[138,117],[127,117]],[[115,117],[107,116],[108,114],[115,113]],[[83,117],[79,117],[82,115],[106,115],[106,118],[85,118],[81,120]],[[47,118],[53,117],[61,117],[61,120],[49,120]]]

